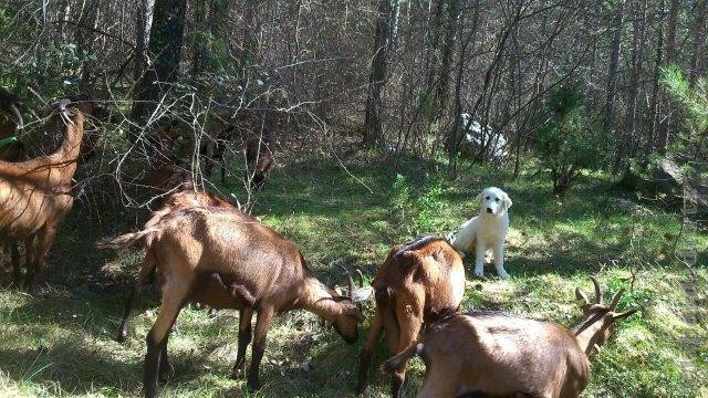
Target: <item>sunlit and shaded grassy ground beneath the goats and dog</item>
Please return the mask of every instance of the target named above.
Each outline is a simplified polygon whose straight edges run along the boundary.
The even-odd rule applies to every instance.
[[[708,317],[700,310],[699,325],[689,321],[691,305],[705,308],[708,273],[697,270],[704,295],[690,295],[679,285],[688,280],[670,254],[680,230],[679,209],[667,213],[637,203],[613,191],[613,181],[603,175],[583,176],[561,199],[533,170],[511,179],[508,170],[472,168],[450,184],[437,177],[442,175],[439,165],[416,160],[396,164],[397,171],[393,161],[374,155],[342,163],[326,155],[279,160],[253,213],[300,244],[313,272],[331,284],[343,282],[334,264],[361,266],[371,277],[391,244],[455,230],[478,211],[473,198],[481,188],[503,187],[514,201],[507,247],[512,279],[491,276],[491,269],[487,281],[470,279],[464,308],[503,310],[572,326],[580,315],[573,290],[592,291],[587,275],[596,275],[610,293],[631,290],[620,308],[637,305],[642,311],[592,358],[585,396],[708,396],[702,387],[708,385]],[[144,337],[156,317],[157,298],[148,290],[134,316],[134,334],[124,345],[114,342],[140,253],[100,253],[92,242],[129,229],[144,216],[116,213],[111,206],[88,212],[82,205],[54,244],[43,294],[0,290],[0,396],[140,394]],[[699,264],[706,263],[707,243],[704,233]],[[237,325],[238,315],[230,311],[214,320],[205,311],[183,311],[169,342],[176,374],[165,396],[248,396],[243,381],[227,377]],[[281,316],[269,334],[264,386],[257,396],[352,396],[356,353],[367,328],[365,323],[360,342],[348,346],[304,311]],[[382,348],[375,362],[388,355]],[[693,367],[681,366],[683,360]],[[416,359],[409,369],[407,395],[413,396],[421,363]],[[368,396],[387,391],[388,380],[374,371]]]

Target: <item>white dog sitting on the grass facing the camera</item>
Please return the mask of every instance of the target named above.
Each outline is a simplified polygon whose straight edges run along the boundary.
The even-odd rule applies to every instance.
[[[452,240],[452,247],[465,258],[472,250],[477,253],[475,275],[485,274],[485,254],[491,249],[494,255],[497,274],[509,277],[504,271],[504,238],[509,229],[511,199],[507,192],[497,187],[489,187],[477,196],[481,203],[479,216],[470,219],[460,227],[460,231]]]

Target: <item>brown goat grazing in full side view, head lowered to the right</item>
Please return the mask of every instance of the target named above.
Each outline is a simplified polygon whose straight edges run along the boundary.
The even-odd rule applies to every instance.
[[[170,212],[156,224],[100,242],[119,248],[145,239],[162,275],[163,303],[148,333],[144,389],[157,395],[157,377],[168,370],[167,338],[181,307],[198,302],[240,311],[239,343],[233,376],[244,365],[251,339],[251,316],[258,312],[248,386],[260,386],[259,366],[270,322],[277,314],[305,308],[331,321],[347,342],[357,338],[363,318],[358,305],[314,277],[298,247],[256,219],[218,208]],[[350,279],[352,295],[353,281]]]

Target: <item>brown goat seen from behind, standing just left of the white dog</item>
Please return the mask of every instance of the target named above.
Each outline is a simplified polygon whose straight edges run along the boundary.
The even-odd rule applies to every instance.
[[[424,323],[457,312],[465,294],[462,259],[447,240],[424,237],[391,249],[372,281],[376,314],[360,355],[357,394],[367,387],[372,354],[382,332],[393,353],[406,349]],[[398,397],[405,367],[393,376],[392,395]]]

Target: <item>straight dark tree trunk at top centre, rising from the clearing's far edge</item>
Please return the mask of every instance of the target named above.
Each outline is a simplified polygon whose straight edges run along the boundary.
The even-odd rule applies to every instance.
[[[364,145],[375,145],[383,138],[381,125],[382,100],[381,92],[386,80],[386,62],[388,59],[388,32],[391,21],[391,1],[378,0],[378,18],[374,36],[374,59],[372,73],[368,78],[368,95],[366,97],[366,115],[364,117]]]

